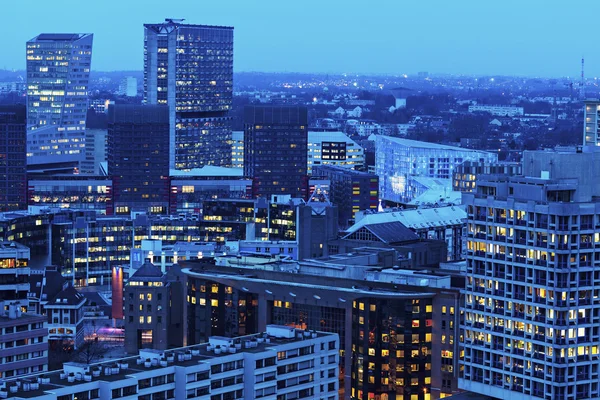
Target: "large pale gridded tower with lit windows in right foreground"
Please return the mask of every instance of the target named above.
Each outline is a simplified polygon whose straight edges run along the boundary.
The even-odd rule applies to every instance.
[[[462,389],[500,399],[600,396],[600,152],[525,152],[480,176],[468,212]]]

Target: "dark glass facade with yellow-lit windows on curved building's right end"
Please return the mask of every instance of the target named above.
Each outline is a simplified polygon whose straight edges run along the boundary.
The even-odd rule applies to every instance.
[[[352,399],[429,400],[432,299],[352,304]]]

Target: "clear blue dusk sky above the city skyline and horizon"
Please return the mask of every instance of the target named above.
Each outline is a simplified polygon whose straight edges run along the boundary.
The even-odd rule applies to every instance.
[[[0,68],[42,32],[93,33],[92,69],[141,70],[143,24],[235,28],[236,71],[600,75],[600,2],[4,0]]]

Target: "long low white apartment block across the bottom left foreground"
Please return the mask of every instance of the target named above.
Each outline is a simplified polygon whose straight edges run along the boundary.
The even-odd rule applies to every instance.
[[[338,399],[339,338],[268,325],[264,334],[64,369],[0,384],[0,397],[57,399]]]

